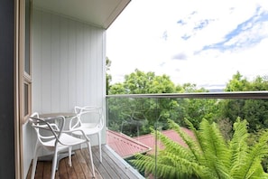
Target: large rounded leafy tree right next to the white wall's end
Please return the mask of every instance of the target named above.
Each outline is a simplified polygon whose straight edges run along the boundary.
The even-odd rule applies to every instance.
[[[153,72],[135,70],[125,75],[123,83],[116,83],[109,89],[109,94],[152,94],[173,93],[175,85],[167,75],[156,76]],[[170,109],[178,106],[175,99],[109,99],[109,118],[116,121],[109,123],[117,130],[129,136],[150,133],[150,127],[162,123],[165,127],[166,118],[170,118]],[[116,108],[115,106],[118,106]],[[173,113],[175,115],[175,113]],[[161,117],[161,118],[160,118]],[[128,124],[128,125],[126,125]],[[118,128],[118,126],[121,126]],[[109,126],[110,127],[110,126]]]

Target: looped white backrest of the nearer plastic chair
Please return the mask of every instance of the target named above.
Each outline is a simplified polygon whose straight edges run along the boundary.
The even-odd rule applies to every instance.
[[[55,140],[55,146],[60,142],[60,135],[65,125],[65,118],[62,116],[56,118],[39,118],[39,115],[33,113],[29,118],[32,127],[34,128],[37,138],[43,146],[51,140]],[[64,145],[64,144],[62,144]]]

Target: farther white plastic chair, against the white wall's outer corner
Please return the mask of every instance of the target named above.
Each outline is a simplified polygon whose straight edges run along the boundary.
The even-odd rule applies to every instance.
[[[79,128],[87,136],[97,135],[98,148],[99,148],[99,160],[102,162],[101,153],[101,131],[104,127],[104,116],[102,108],[94,106],[75,107],[75,112],[78,114],[78,119],[71,119],[69,122],[69,129]],[[74,133],[77,136],[82,137],[79,133]]]

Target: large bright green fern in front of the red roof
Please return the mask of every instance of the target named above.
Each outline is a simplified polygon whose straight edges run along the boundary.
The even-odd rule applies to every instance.
[[[268,178],[261,165],[263,157],[268,155],[267,130],[254,146],[248,146],[247,122],[240,118],[237,118],[233,126],[234,135],[228,142],[220,133],[217,124],[209,124],[206,119],[201,121],[199,130],[186,119],[194,137],[189,137],[171,119],[168,122],[188,147],[180,146],[161,132],[152,130],[164,149],[156,156],[137,154],[131,160],[131,163],[145,174],[153,174],[162,179]]]

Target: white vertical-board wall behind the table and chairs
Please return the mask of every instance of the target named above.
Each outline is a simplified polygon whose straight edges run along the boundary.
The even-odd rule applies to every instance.
[[[76,105],[97,105],[106,111],[105,74],[106,30],[33,8],[32,112],[71,112]],[[105,143],[105,129],[102,136]],[[25,124],[24,176],[31,164],[35,138]],[[97,145],[97,138],[92,139],[92,145]]]

